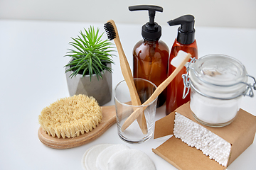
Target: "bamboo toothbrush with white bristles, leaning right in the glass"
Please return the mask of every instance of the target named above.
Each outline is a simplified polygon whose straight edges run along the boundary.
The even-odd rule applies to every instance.
[[[172,74],[166,80],[164,80],[156,88],[154,93],[142,104],[145,107],[137,108],[131,115],[129,115],[127,120],[125,120],[124,124],[122,125],[122,128],[121,128],[122,131],[126,130],[129,127],[129,125],[131,125],[134,122],[134,120],[139,116],[139,114],[146,109],[148,104],[154,101],[154,99],[156,99],[157,96],[159,96],[159,94],[161,94],[161,92],[164,91],[164,89],[166,89],[166,86],[168,86],[171,83],[171,81],[176,77],[178,72],[181,71],[181,69],[184,67],[184,65],[186,64],[186,62],[188,62],[190,58],[191,58],[191,54],[183,52],[181,50],[178,52],[178,55],[174,58],[176,61],[175,62],[172,61],[173,63],[171,62],[171,64],[174,67],[176,67],[174,72],[172,72]]]

